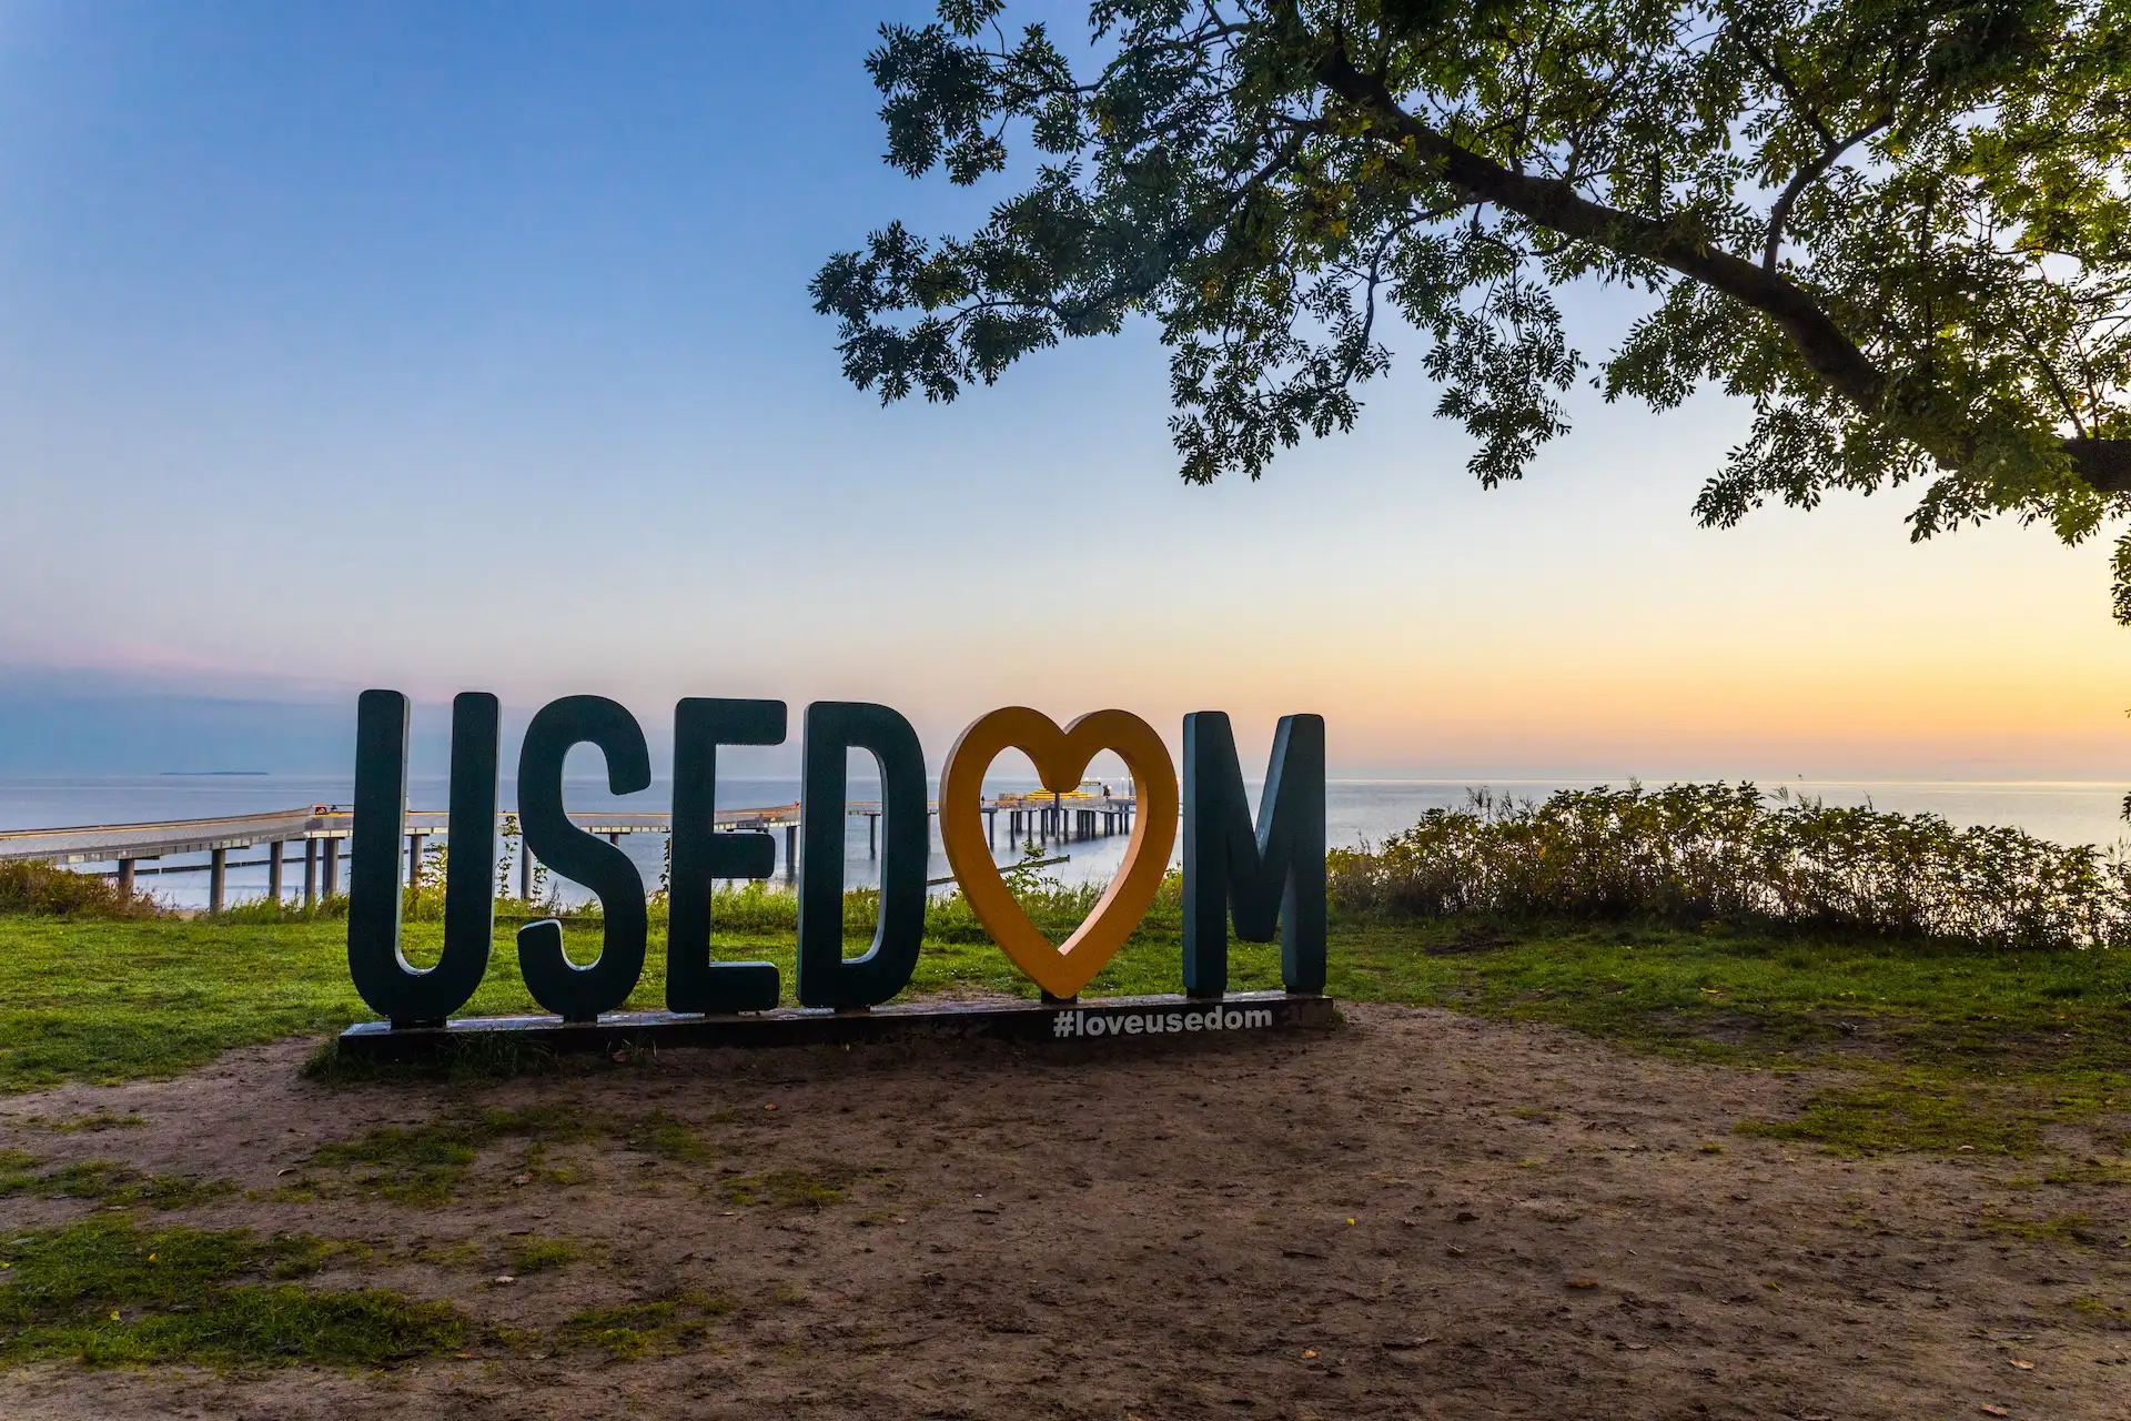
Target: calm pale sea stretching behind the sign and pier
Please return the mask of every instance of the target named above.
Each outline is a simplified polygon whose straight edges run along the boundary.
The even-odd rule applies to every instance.
[[[1362,844],[1383,842],[1392,833],[1413,824],[1426,810],[1464,803],[1466,780],[1334,780],[1325,786],[1325,820],[1330,842]],[[1553,780],[1496,780],[1487,784],[1498,795],[1543,799],[1558,788],[1588,788],[1590,782]],[[989,790],[1034,788],[1027,782],[997,780]],[[1773,788],[1773,786],[1771,786]],[[1792,793],[1807,793],[1833,805],[1871,803],[1880,810],[1941,814],[1954,824],[2014,824],[2044,839],[2061,844],[2114,844],[2125,835],[2125,824],[2116,818],[2125,788],[2114,782],[1788,782]],[[441,778],[411,778],[409,801],[418,810],[441,810],[445,805],[445,784]],[[1253,790],[1255,793],[1255,790]],[[0,829],[49,829],[60,824],[119,824],[164,818],[213,818],[217,814],[251,814],[258,810],[290,810],[311,803],[347,803],[354,790],[349,780],[320,775],[128,775],[128,778],[66,778],[66,780],[9,780],[0,778]],[[869,799],[874,788],[852,775],[852,799]],[[665,810],[671,799],[671,784],[656,782],[641,795],[614,797],[601,780],[571,780],[569,805],[573,810],[631,807]],[[720,780],[720,807],[782,805],[799,799],[799,782],[793,780]],[[516,786],[503,784],[503,805],[516,805]],[[1014,848],[1006,844],[1004,820],[999,824],[999,859],[1012,861]],[[624,835],[622,848],[644,871],[646,884],[658,882],[665,856],[663,835]],[[1108,880],[1123,856],[1125,839],[1087,839],[1051,848],[1048,852],[1070,854],[1048,873],[1068,882]],[[247,861],[264,856],[264,850],[234,852],[232,859]],[[170,859],[156,867],[183,863],[205,863],[205,854]],[[844,835],[846,878],[852,886],[876,882],[876,863],[865,848],[865,820],[846,820]],[[92,867],[92,865],[83,865]],[[147,865],[143,865],[147,867]],[[778,833],[778,880],[784,876],[784,835]],[[946,856],[940,852],[940,835],[933,831],[933,852],[927,878],[946,878]],[[283,880],[292,891],[300,888],[303,865],[296,861],[294,873]],[[198,908],[207,903],[207,873],[162,873],[143,878],[141,884],[158,897],[179,905]],[[258,897],[266,891],[264,867],[232,867],[230,899]]]

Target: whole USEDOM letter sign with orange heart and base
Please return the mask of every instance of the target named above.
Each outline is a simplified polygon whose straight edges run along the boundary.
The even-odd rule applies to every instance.
[[[1321,716],[1285,716],[1253,820],[1227,716],[1183,724],[1183,775],[1142,718],[1102,709],[1059,726],[1042,712],[1004,707],[961,733],[940,773],[940,839],[972,912],[1040,989],[1040,1003],[893,1003],[918,965],[925,933],[929,805],[925,754],[910,722],[886,705],[816,701],[801,735],[797,1008],[780,1008],[774,963],[712,959],[720,878],[767,878],[767,833],[716,831],[718,748],[776,746],[782,701],[686,699],[673,707],[673,818],[667,884],[665,1010],[622,1012],[644,976],[650,937],[644,876],[618,846],[569,820],[563,763],[578,746],[605,756],[607,788],[650,788],[644,729],[605,697],[565,697],[533,716],[518,752],[518,818],[526,852],[601,903],[599,954],[580,965],[554,918],[518,929],[518,969],[552,1016],[454,1018],[479,989],[494,940],[497,697],[452,703],[452,784],[443,950],[416,967],[401,950],[401,854],[407,805],[407,697],[367,690],[356,712],[354,863],[347,967],[386,1020],[349,1027],[364,1055],[420,1055],[467,1033],[535,1033],[558,1048],[616,1038],[676,1042],[833,1042],[908,1029],[989,1031],[1046,1040],[1238,1031],[1323,1020],[1325,984],[1325,750]],[[880,901],[872,942],[844,946],[846,758],[865,750],[880,769]],[[1087,920],[1051,944],[1014,901],[982,827],[985,771],[1006,750],[1036,765],[1042,786],[1068,793],[1110,750],[1132,773],[1136,805],[1125,859]],[[1153,905],[1183,833],[1183,952],[1176,997],[1102,999],[1078,993]],[[1230,993],[1227,942],[1281,940],[1281,993]],[[580,952],[582,954],[582,952]]]

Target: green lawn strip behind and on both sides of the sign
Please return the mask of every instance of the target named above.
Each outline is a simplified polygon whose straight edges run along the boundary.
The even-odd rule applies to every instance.
[[[597,927],[569,931],[590,954]],[[407,925],[418,961],[435,922]],[[927,942],[912,995],[1034,995],[997,948]],[[720,957],[784,969],[784,931],[720,937]],[[1236,944],[1236,991],[1279,986],[1276,948]],[[1176,925],[1155,912],[1089,995],[1178,986]],[[1639,927],[1366,925],[1332,931],[1334,997],[1547,1020],[1637,1050],[1758,1067],[1843,1065],[1794,1123],[1839,1148],[1929,1148],[1954,1136],[2024,1150],[2048,1121],[2131,1110],[2131,954],[1984,952]],[[633,1008],[663,1006],[663,940]],[[499,929],[471,1014],[537,1010]],[[347,984],[345,922],[0,916],[0,1089],[190,1069],[230,1046],[326,1038],[367,1018]],[[2131,1146],[2127,1146],[2131,1148]]]

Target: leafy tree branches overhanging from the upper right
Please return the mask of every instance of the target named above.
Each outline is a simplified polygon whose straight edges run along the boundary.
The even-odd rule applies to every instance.
[[[816,275],[882,401],[1149,315],[1183,475],[1257,477],[1353,426],[1396,311],[1487,486],[1590,371],[1752,403],[1705,524],[1914,479],[1916,537],[2078,541],[2131,490],[2131,0],[1095,0],[1078,64],[1004,11],[867,58],[904,173],[1040,153],[970,236]],[[1649,300],[1596,369],[1575,281]]]

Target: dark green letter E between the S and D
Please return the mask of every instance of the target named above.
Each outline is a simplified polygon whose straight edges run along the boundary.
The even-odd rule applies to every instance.
[[[669,1012],[767,1012],[776,963],[710,961],[710,893],[718,878],[769,878],[767,833],[716,833],[718,746],[784,744],[784,701],[707,701],[673,707],[673,867],[667,920]]]

